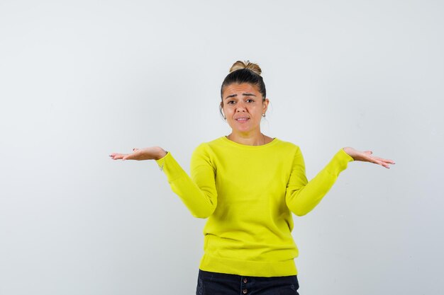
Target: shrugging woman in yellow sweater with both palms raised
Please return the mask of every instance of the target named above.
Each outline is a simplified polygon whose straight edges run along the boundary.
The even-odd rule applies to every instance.
[[[110,155],[157,161],[189,211],[208,218],[198,295],[298,294],[292,212],[302,216],[316,207],[350,161],[394,164],[345,147],[307,181],[299,147],[260,131],[269,103],[260,74],[257,64],[233,64],[220,105],[231,134],[195,149],[190,176],[159,146]]]

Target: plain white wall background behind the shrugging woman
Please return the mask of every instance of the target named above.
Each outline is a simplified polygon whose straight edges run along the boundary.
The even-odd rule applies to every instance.
[[[152,162],[188,170],[231,64],[260,64],[262,131],[313,178],[301,295],[443,294],[443,1],[0,1],[0,294],[194,294],[204,220]]]

